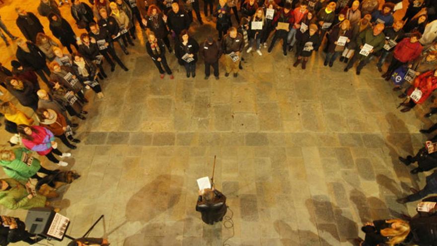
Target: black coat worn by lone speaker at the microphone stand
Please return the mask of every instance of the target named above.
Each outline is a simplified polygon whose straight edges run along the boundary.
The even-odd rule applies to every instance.
[[[209,225],[221,221],[227,211],[226,196],[218,190],[214,190],[214,194],[215,197],[210,202],[202,200],[202,196],[199,196],[196,205],[196,211],[202,213],[203,222]]]

